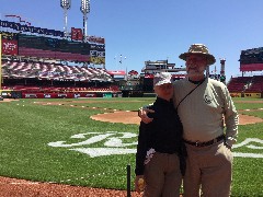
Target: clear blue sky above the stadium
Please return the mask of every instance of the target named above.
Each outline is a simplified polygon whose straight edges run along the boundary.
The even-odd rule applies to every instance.
[[[241,74],[241,50],[263,47],[263,0],[90,0],[88,35],[102,36],[107,70],[137,70],[146,60],[184,66],[179,55],[203,43],[216,57],[210,70]],[[33,26],[64,30],[60,0],[0,0],[0,19],[16,14]],[[71,0],[68,28],[82,28],[81,0]],[[119,56],[123,63],[118,63]],[[124,59],[126,57],[126,59]]]

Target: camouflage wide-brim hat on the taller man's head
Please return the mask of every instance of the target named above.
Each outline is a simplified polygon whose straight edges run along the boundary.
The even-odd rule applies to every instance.
[[[179,58],[186,61],[186,57],[191,54],[197,54],[197,55],[205,56],[207,58],[207,66],[214,65],[216,62],[216,58],[209,54],[208,48],[203,44],[191,45],[188,51],[181,54],[179,56]]]

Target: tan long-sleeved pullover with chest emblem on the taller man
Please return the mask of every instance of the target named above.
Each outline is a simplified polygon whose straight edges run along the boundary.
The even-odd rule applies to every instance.
[[[187,78],[175,81],[174,106],[196,85]],[[226,134],[229,146],[237,141],[238,113],[227,86],[219,81],[207,78],[180,104],[178,113],[185,140],[203,142]]]

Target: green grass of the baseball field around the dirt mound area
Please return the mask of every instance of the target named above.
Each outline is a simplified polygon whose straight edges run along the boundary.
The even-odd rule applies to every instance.
[[[0,102],[0,176],[126,189],[126,166],[130,164],[134,188],[138,126],[95,121],[90,116],[104,113],[104,108],[136,111],[153,99],[75,100],[92,103],[71,101]],[[254,100],[235,99],[237,101]],[[52,104],[58,102],[64,102],[64,105]],[[238,109],[263,107],[262,103],[238,102],[236,106]],[[263,111],[242,114],[263,118]],[[252,140],[241,144],[248,139]],[[233,148],[232,196],[263,196],[262,143],[263,123],[239,126],[237,144],[240,146]],[[244,158],[242,153],[248,154]]]

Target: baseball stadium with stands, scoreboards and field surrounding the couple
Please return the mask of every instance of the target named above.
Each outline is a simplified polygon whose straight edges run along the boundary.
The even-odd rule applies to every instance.
[[[141,71],[107,70],[106,37],[67,27],[70,0],[61,0],[65,30],[32,26],[19,15],[0,20],[0,196],[134,196],[140,118],[152,103],[153,74],[185,78],[185,68],[146,60]],[[102,33],[103,34],[103,33]],[[165,59],[165,58],[163,58]],[[239,77],[224,82],[239,112],[232,148],[231,196],[263,196],[263,47],[240,51]],[[245,73],[252,73],[250,77]],[[183,189],[182,189],[183,196]]]

